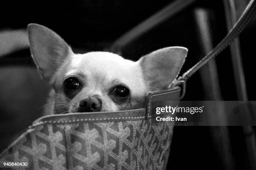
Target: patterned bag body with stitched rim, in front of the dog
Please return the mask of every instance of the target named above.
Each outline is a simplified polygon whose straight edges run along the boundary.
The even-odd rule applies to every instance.
[[[155,101],[154,94],[148,100]],[[36,170],[165,170],[174,122],[152,116],[145,108],[45,116],[0,154],[0,162],[26,162],[17,169]]]

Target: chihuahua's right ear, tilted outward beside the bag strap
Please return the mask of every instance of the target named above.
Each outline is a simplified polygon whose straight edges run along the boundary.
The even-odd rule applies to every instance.
[[[151,52],[138,60],[148,90],[161,90],[177,77],[187,56],[187,48],[166,47]]]

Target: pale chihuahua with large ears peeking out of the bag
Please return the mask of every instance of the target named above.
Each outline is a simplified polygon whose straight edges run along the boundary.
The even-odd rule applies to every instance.
[[[46,115],[142,108],[147,92],[172,83],[187,55],[184,47],[165,47],[136,62],[110,52],[74,54],[38,24],[28,25],[28,38],[39,74],[53,87]]]

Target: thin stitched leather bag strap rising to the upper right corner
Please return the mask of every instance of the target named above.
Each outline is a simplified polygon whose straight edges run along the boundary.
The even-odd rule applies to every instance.
[[[197,62],[196,65],[194,65],[182,76],[180,76],[175,86],[184,84],[189,79],[189,77],[191,77],[197,70],[204,66],[209,60],[220,54],[220,52],[222,52],[226,47],[228,47],[236,39],[236,37],[238,37],[243,29],[246,28],[246,25],[250,22],[255,14],[256,2],[255,0],[251,0],[239,20],[228,33],[228,35],[226,35],[225,38],[212,51],[210,51],[205,57],[203,57],[202,60]],[[182,96],[184,96],[184,91],[185,89],[183,89]]]

